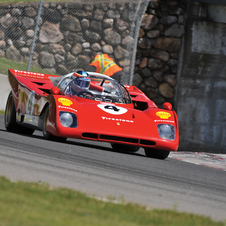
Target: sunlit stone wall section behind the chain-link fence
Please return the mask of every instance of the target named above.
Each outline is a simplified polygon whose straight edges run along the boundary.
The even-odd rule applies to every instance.
[[[32,64],[60,75],[89,71],[91,53],[101,52],[129,76],[137,12],[145,11],[145,1],[103,2],[44,2]],[[0,57],[28,62],[38,7],[39,3],[0,6]]]

